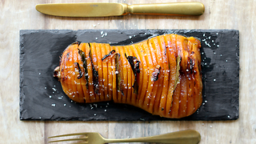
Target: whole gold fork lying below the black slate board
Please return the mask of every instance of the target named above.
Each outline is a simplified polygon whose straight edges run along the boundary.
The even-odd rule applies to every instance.
[[[201,136],[196,130],[182,130],[168,134],[160,134],[150,137],[142,138],[124,138],[124,139],[107,139],[103,138],[98,133],[75,133],[75,134],[63,134],[49,138],[58,138],[66,136],[80,136],[79,138],[69,138],[63,140],[56,140],[50,142],[67,142],[77,141],[79,144],[103,144],[112,142],[154,142],[154,143],[176,143],[176,144],[197,144],[200,142]]]

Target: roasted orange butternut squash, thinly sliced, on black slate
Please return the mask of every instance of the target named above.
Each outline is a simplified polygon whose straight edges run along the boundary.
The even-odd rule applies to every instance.
[[[54,70],[75,102],[114,101],[166,118],[193,114],[202,104],[201,43],[165,34],[129,46],[74,42]]]

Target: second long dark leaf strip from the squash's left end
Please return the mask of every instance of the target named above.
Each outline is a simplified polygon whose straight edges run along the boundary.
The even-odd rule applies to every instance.
[[[90,46],[90,43],[88,43],[88,44]],[[91,49],[89,51],[89,57],[90,57],[90,62],[91,62],[91,66],[92,66],[92,69],[93,69],[94,92],[95,92],[95,94],[99,94],[98,71],[94,67],[92,54],[91,54]]]

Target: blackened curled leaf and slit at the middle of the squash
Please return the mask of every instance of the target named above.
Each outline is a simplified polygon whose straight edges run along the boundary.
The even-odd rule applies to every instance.
[[[140,70],[139,70],[140,61],[138,61],[138,59],[133,56],[127,57],[126,53],[125,53],[125,56],[126,56],[127,61],[130,63],[131,69],[134,72],[135,78],[134,78],[134,85],[132,86],[134,88],[134,94],[138,94],[138,74],[140,73]]]

